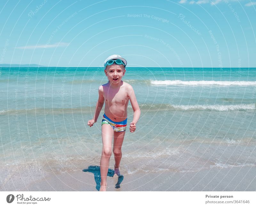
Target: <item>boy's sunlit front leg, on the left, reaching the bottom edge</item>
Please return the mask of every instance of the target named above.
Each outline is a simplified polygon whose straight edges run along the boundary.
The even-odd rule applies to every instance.
[[[102,153],[100,158],[100,190],[106,190],[107,187],[107,175],[108,175],[108,166],[109,159],[111,156],[112,148],[112,139],[113,139],[113,128],[108,124],[102,124],[101,127],[101,136],[102,136]]]

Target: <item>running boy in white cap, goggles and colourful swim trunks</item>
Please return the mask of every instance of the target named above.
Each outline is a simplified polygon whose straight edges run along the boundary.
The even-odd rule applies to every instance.
[[[130,123],[130,132],[136,129],[136,123],[140,118],[140,108],[135,97],[133,88],[122,81],[127,62],[120,55],[109,56],[104,63],[105,74],[108,83],[99,87],[99,99],[96,105],[93,119],[88,121],[93,126],[99,117],[101,108],[105,102],[105,113],[101,122],[102,153],[100,158],[100,191],[107,189],[107,174],[109,159],[112,151],[112,138],[114,137],[113,153],[115,155],[114,175],[120,175],[119,165],[122,158],[121,147],[127,127],[127,106],[131,101],[133,120]]]

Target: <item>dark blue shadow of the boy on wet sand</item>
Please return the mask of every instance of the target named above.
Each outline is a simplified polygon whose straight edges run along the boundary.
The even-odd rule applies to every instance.
[[[94,174],[94,180],[96,182],[96,189],[99,191],[100,190],[100,166],[92,166],[90,165],[87,169],[83,169],[84,172],[89,172]],[[109,177],[114,176],[114,170],[108,168],[108,175]],[[116,183],[115,188],[120,188],[121,182],[124,180],[124,175],[118,175],[118,180]]]

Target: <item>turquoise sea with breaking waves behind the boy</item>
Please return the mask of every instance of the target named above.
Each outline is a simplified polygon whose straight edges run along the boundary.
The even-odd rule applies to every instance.
[[[126,68],[123,80],[141,109],[123,173],[256,165],[256,68]],[[87,121],[106,82],[103,68],[1,68],[1,165],[99,165],[101,118]]]

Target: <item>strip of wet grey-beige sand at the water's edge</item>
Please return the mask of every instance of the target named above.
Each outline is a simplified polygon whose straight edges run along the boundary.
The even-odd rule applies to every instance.
[[[89,164],[89,163],[88,163]],[[84,166],[87,166],[86,164]],[[39,166],[37,166],[39,167]],[[97,191],[97,167],[67,172],[43,172],[36,166],[15,174],[1,172],[1,191]],[[93,167],[91,167],[92,169]],[[113,169],[112,169],[113,170]],[[86,170],[85,170],[86,171]],[[110,172],[110,171],[109,171]],[[117,178],[108,176],[108,191],[255,191],[256,167],[212,167],[198,172],[135,172],[124,174],[120,188]]]

